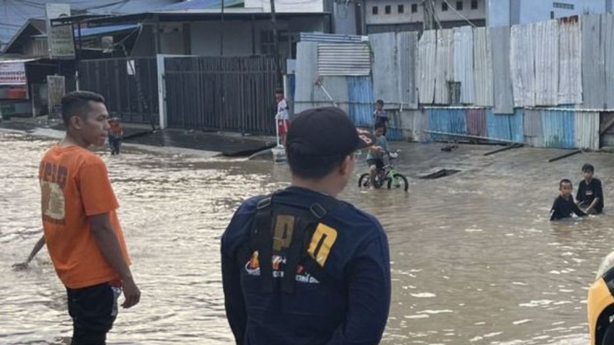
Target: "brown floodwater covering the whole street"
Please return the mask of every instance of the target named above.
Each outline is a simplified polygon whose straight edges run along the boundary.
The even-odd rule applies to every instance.
[[[49,138],[0,131],[0,344],[63,344],[66,292],[43,249],[13,271],[42,235],[37,167]],[[394,147],[394,145],[393,145]],[[391,246],[392,305],[382,344],[586,344],[586,293],[614,244],[614,156],[562,150],[398,144],[408,193],[362,191],[342,199],[376,215]],[[141,303],[121,311],[109,344],[233,344],[225,319],[219,244],[238,204],[284,187],[287,166],[268,161],[101,152]],[[362,160],[365,156],[362,156]],[[558,181],[593,163],[605,213],[551,223]],[[433,168],[461,172],[419,180]],[[357,165],[356,175],[366,171]],[[121,298],[123,300],[123,297]]]

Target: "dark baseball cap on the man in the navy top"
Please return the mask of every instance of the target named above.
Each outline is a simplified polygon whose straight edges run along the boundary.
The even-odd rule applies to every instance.
[[[375,137],[359,131],[348,114],[336,107],[308,109],[290,123],[286,150],[301,156],[349,155],[375,144]]]

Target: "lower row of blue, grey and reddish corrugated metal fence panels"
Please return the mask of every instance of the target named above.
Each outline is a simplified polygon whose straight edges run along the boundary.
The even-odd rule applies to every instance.
[[[430,107],[422,111],[401,112],[398,115],[400,121],[391,123],[391,127],[398,128],[406,138],[418,141],[460,140],[457,136],[424,132],[429,130],[536,147],[598,150],[600,127],[608,122],[604,118],[613,118],[608,114],[575,110],[569,106],[560,109],[516,108],[514,114],[494,114],[489,108]]]

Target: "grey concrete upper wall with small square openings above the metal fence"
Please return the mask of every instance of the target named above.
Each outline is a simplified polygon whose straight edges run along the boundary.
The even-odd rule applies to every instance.
[[[435,13],[440,21],[457,21],[463,20],[454,10],[456,10],[456,2],[463,3],[463,9],[458,11],[464,17],[470,20],[483,20],[486,18],[486,2],[485,0],[478,0],[478,9],[471,9],[471,0],[448,0],[449,4],[453,8],[449,8],[447,11],[442,11],[441,4],[443,0],[435,0]],[[411,12],[412,5],[418,6],[418,11]],[[403,13],[398,13],[398,5],[403,5]],[[373,15],[373,7],[378,7],[378,14]],[[391,6],[391,13],[386,14],[386,6]],[[400,23],[414,23],[422,22],[424,20],[424,9],[419,0],[367,0],[366,7],[366,21],[367,25],[370,24],[400,24]]]

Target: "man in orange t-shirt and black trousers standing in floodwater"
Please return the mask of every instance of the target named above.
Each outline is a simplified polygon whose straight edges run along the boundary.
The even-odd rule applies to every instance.
[[[141,298],[106,166],[87,149],[104,145],[109,114],[103,96],[76,91],[62,98],[62,117],[66,136],[39,166],[45,242],[68,293],[71,344],[104,345],[121,289],[124,308]]]

